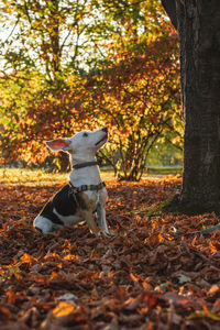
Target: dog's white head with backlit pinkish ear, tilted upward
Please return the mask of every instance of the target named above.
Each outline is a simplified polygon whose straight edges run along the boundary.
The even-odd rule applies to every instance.
[[[46,141],[46,145],[53,151],[66,151],[70,154],[96,154],[108,141],[108,129],[103,128],[95,132],[81,131],[69,139],[55,139]]]

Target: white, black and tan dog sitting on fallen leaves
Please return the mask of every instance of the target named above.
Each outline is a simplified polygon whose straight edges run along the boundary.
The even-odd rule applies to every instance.
[[[86,221],[95,235],[111,235],[106,220],[106,184],[101,180],[96,160],[97,151],[108,141],[108,129],[81,131],[69,139],[46,141],[52,151],[69,153],[72,172],[69,183],[44,206],[33,226],[42,233],[73,227]],[[94,213],[97,212],[98,226]],[[100,229],[100,230],[99,230]]]

